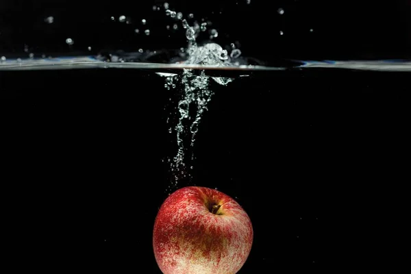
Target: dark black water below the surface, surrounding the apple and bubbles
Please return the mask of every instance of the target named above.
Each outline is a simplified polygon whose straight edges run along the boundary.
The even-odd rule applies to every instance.
[[[409,74],[279,71],[212,89],[180,186],[218,188],[245,208],[255,238],[239,273],[375,260],[371,224],[402,169]],[[1,71],[0,90],[6,259],[160,273],[152,231],[171,184],[177,91],[134,69]]]

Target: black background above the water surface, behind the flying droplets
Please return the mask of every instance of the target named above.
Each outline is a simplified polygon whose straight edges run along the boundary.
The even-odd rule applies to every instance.
[[[186,45],[184,32],[166,25],[177,21],[164,1],[1,1],[0,53],[29,52],[40,57],[97,54],[102,50],[171,49]],[[265,61],[292,59],[408,58],[411,45],[410,1],[169,1],[170,8],[195,19],[206,18],[219,31],[216,42],[240,42],[244,55]],[[238,3],[238,4],[236,4]],[[280,15],[277,10],[284,9]],[[221,12],[221,13],[220,13]],[[130,24],[119,23],[125,15]],[[45,18],[53,16],[47,24]],[[110,19],[114,16],[115,21]],[[141,24],[142,18],[147,25]],[[135,34],[134,29],[140,29]],[[151,30],[145,36],[143,30]],[[210,27],[209,27],[210,29]],[[310,32],[310,29],[313,31]],[[279,32],[284,32],[280,35]],[[66,38],[74,44],[66,45]],[[202,35],[199,41],[207,38]],[[92,47],[92,51],[88,51]]]

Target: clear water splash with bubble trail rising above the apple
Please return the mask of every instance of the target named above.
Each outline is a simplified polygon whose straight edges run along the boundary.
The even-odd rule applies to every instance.
[[[166,14],[173,17],[175,12],[166,10]],[[178,14],[178,12],[177,12]],[[190,16],[189,16],[190,17]],[[192,17],[192,16],[191,16]],[[180,18],[179,18],[180,19]],[[182,18],[181,18],[182,19]],[[199,47],[196,38],[200,32],[205,31],[206,24],[195,24],[193,27],[188,24],[186,19],[182,19],[182,27],[186,29],[186,39],[188,42],[186,52],[187,59],[184,64],[198,64],[198,65],[213,65],[213,66],[232,66],[230,59],[238,58],[240,51],[234,51],[232,56],[228,55],[227,51],[216,43],[208,43]],[[213,29],[214,37],[217,34]],[[165,76],[165,75],[163,75]],[[199,132],[199,125],[204,112],[208,110],[208,103],[214,95],[210,88],[212,81],[223,86],[232,82],[232,78],[227,77],[209,77],[205,71],[200,71],[199,75],[193,73],[192,69],[184,69],[181,75],[166,75],[164,87],[168,90],[177,92],[179,98],[177,99],[177,114],[179,114],[177,124],[174,127],[174,132],[177,140],[177,153],[171,163],[172,184],[169,186],[169,191],[175,190],[182,180],[192,179],[190,169],[187,168],[187,155],[190,155],[190,163],[195,160],[193,147],[197,133]],[[168,121],[170,121],[168,119]],[[173,132],[173,127],[169,128],[169,132]]]

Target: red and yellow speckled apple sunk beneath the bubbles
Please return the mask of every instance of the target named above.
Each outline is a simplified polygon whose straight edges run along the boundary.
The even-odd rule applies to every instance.
[[[211,188],[180,188],[155,218],[154,256],[164,274],[237,273],[252,244],[253,227],[245,210]]]

